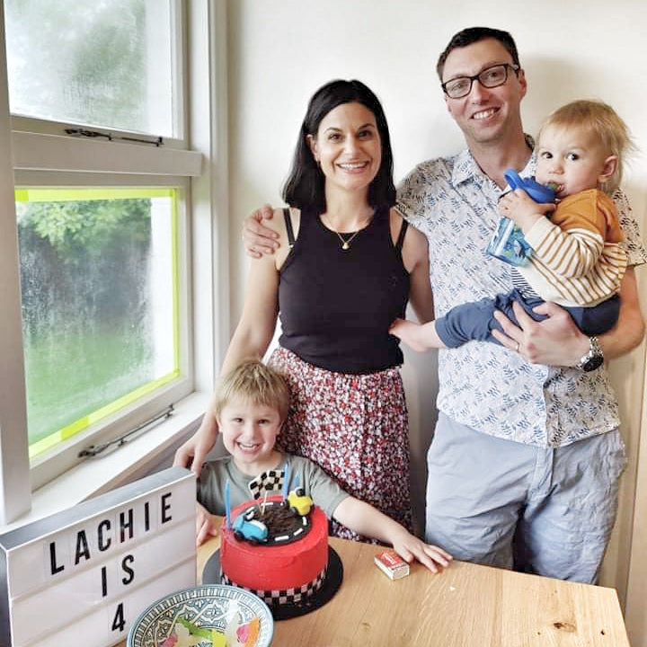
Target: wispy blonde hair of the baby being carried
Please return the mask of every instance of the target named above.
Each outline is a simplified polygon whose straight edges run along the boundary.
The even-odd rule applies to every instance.
[[[605,102],[582,99],[563,105],[544,122],[537,141],[547,126],[557,128],[581,127],[591,131],[607,149],[608,155],[617,156],[616,173],[599,188],[612,194],[620,186],[623,175],[623,157],[633,148],[631,135],[625,121]]]

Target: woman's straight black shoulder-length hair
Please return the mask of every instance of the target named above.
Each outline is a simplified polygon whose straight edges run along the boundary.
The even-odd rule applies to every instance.
[[[297,208],[326,210],[325,176],[308,145],[307,136],[316,137],[323,118],[342,103],[361,103],[373,113],[382,145],[382,162],[377,175],[368,187],[368,204],[374,208],[393,207],[395,185],[393,180],[393,152],[386,116],[377,96],[360,81],[331,81],[319,88],[310,99],[306,117],[301,124],[297,150],[288,180],[281,193],[286,203]]]

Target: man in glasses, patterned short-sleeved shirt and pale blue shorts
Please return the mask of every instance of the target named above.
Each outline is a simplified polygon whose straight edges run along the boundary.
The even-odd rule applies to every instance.
[[[420,164],[399,208],[430,244],[436,315],[510,289],[510,268],[485,253],[499,220],[504,173],[534,174],[522,129],[527,80],[509,33],[460,31],[440,55],[448,111],[467,148]],[[647,261],[624,195],[617,197],[631,265]],[[260,215],[246,227],[258,231]],[[249,240],[250,235],[247,235]],[[266,239],[267,240],[267,239]],[[262,239],[248,242],[250,253]],[[459,260],[459,261],[458,261]],[[634,269],[613,331],[589,339],[554,304],[518,326],[497,315],[504,348],[470,342],[439,351],[439,421],[428,454],[426,540],[457,559],[594,582],[616,518],[625,467],[616,396],[602,359],[643,338]]]

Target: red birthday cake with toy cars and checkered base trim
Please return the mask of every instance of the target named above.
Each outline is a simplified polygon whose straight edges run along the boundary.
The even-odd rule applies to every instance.
[[[328,565],[328,519],[302,499],[305,508],[273,496],[232,510],[220,539],[223,583],[251,590],[272,609],[315,596]]]

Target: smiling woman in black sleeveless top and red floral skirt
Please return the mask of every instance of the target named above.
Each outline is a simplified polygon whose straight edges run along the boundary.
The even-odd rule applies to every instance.
[[[270,221],[279,252],[252,261],[222,371],[261,359],[279,315],[270,364],[293,395],[279,448],[411,528],[403,355],[388,327],[408,298],[421,322],[433,318],[427,241],[393,208],[386,117],[366,85],[332,81],[312,97],[283,199],[290,208]],[[175,464],[198,471],[216,436],[207,412]]]

